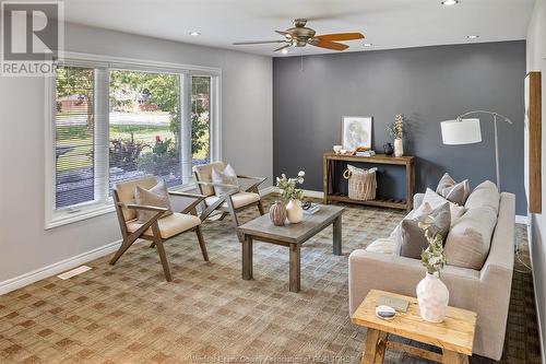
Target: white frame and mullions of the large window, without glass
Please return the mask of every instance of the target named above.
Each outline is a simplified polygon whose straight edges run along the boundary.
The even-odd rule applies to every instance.
[[[73,67],[88,67],[97,70],[95,75],[95,140],[106,142],[109,145],[109,72],[110,70],[130,70],[154,73],[177,74],[180,79],[180,104],[181,104],[181,136],[187,139],[188,122],[191,122],[191,77],[211,78],[211,140],[210,157],[211,162],[222,160],[222,69],[212,67],[201,67],[183,63],[171,63],[153,60],[142,60],[133,58],[111,57],[102,55],[91,55],[81,52],[64,52],[62,61],[58,64]],[[189,91],[189,93],[188,93]],[[74,223],[78,221],[99,216],[115,210],[111,197],[108,196],[108,173],[106,176],[95,176],[95,200],[80,203],[72,207],[56,209],[56,78],[45,78],[45,230]],[[185,127],[186,126],[186,127]],[[97,132],[98,129],[98,132]],[[189,129],[191,138],[191,127]],[[191,140],[190,140],[191,141]],[[98,145],[100,143],[96,143]],[[188,143],[181,143],[188,146]],[[189,153],[188,160],[182,156]],[[108,150],[99,153],[106,157],[108,165]],[[95,154],[97,155],[97,154]],[[182,151],[182,185],[176,186],[175,190],[188,190],[194,188],[191,174],[191,143],[186,151]],[[188,154],[186,154],[188,156]],[[104,172],[104,171],[103,171]],[[102,184],[97,184],[98,178],[105,178]],[[106,186],[106,189],[105,189]],[[98,195],[97,195],[98,192]],[[97,196],[99,199],[97,200]]]

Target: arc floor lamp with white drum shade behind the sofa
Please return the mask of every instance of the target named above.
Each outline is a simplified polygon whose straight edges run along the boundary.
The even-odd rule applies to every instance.
[[[500,167],[499,167],[499,143],[498,143],[498,121],[512,125],[508,117],[487,110],[474,110],[459,115],[454,120],[440,122],[442,142],[448,145],[473,144],[482,142],[482,129],[478,118],[464,119],[466,116],[475,114],[486,114],[492,116],[495,128],[495,167],[497,172],[497,188],[500,190]]]

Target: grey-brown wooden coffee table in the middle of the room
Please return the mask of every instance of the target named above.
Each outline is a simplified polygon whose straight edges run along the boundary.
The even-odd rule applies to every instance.
[[[286,246],[290,255],[289,287],[290,292],[299,292],[300,287],[300,248],[301,244],[317,233],[333,224],[333,253],[342,254],[342,213],[343,208],[321,204],[312,215],[304,215],[298,224],[275,226],[269,214],[257,218],[237,228],[242,237],[242,279],[252,279],[252,242],[260,240]]]

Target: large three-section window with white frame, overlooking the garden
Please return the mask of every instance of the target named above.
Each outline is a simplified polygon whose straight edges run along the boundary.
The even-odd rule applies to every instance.
[[[46,225],[111,211],[119,181],[151,174],[190,185],[193,165],[219,158],[218,79],[150,64],[58,64]]]

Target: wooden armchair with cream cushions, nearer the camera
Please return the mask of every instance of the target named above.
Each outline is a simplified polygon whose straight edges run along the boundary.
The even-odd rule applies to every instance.
[[[169,191],[170,196],[191,199],[192,201],[181,212],[173,212],[171,215],[161,218],[167,209],[153,206],[143,206],[134,203],[134,189],[140,186],[144,189],[151,189],[157,184],[154,176],[146,176],[140,179],[120,183],[114,186],[114,203],[118,214],[119,226],[123,242],[116,255],[111,258],[110,265],[116,261],[127,251],[127,249],[138,239],[152,240],[150,247],[156,247],[162,261],[163,271],[168,282],[173,281],[170,269],[165,255],[163,243],[170,237],[177,236],[186,232],[195,232],[203,254],[203,259],[209,261],[206,246],[201,234],[201,219],[197,216],[195,207],[201,203],[205,197],[194,193]],[[146,223],[140,223],[136,220],[136,211],[146,210],[156,212],[155,215]],[[159,219],[161,218],[161,219]]]

